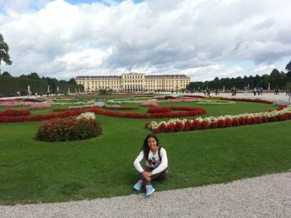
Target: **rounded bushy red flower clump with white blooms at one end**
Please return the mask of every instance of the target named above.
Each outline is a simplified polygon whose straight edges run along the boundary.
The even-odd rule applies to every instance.
[[[36,133],[39,140],[47,142],[83,140],[98,135],[102,135],[102,128],[91,113],[77,118],[42,121]]]

